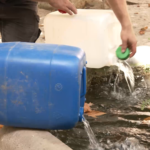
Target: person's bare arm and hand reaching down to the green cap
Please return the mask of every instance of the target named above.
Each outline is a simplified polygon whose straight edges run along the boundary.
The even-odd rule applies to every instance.
[[[137,41],[133,32],[126,0],[108,0],[108,3],[113,9],[122,26],[122,52],[125,52],[126,48],[129,48],[132,52],[130,57],[132,57],[136,53]]]

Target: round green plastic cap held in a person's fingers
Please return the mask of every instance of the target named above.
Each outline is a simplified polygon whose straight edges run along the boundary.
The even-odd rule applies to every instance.
[[[130,50],[127,48],[124,53],[121,51],[121,47],[116,50],[116,56],[121,60],[126,60],[130,56]]]

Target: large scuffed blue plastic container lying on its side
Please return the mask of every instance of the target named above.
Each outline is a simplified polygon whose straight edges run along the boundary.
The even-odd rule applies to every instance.
[[[79,48],[0,44],[0,124],[70,129],[82,120],[86,58]]]

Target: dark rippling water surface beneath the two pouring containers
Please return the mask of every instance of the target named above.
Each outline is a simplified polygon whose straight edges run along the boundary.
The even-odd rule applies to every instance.
[[[92,109],[105,112],[97,118],[85,116],[90,122],[99,144],[106,150],[150,149],[150,87],[149,75],[136,73],[135,90],[130,94],[123,74],[117,93],[114,93],[116,74],[95,77],[87,93]],[[142,110],[144,108],[144,110]],[[90,150],[89,140],[82,123],[69,131],[52,131],[73,150]],[[144,146],[144,147],[143,147]]]

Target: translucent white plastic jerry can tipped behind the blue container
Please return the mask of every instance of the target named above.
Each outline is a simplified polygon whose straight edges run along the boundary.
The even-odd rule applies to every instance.
[[[44,30],[46,43],[83,49],[89,68],[115,64],[121,25],[112,10],[79,9],[73,16],[53,12],[46,16]]]

